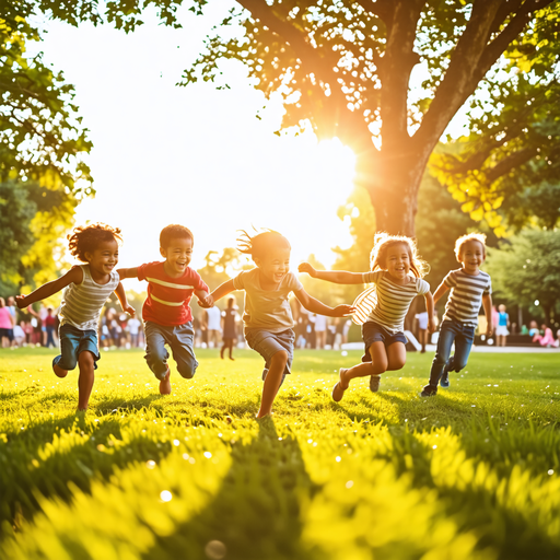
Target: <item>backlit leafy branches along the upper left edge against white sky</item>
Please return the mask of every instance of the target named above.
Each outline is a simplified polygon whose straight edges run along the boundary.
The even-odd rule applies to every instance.
[[[92,143],[73,103],[73,86],[61,72],[30,58],[26,44],[39,32],[12,2],[0,18],[0,180],[33,180],[50,189],[67,187],[77,198],[93,192],[83,162]]]

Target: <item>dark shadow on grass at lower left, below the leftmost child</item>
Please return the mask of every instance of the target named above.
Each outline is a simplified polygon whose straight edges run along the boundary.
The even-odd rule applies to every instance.
[[[73,482],[84,492],[94,479],[108,478],[116,468],[143,460],[160,460],[172,451],[172,443],[139,433],[126,445],[121,440],[120,417],[91,422],[81,413],[35,421],[20,433],[0,441],[0,537],[8,522],[15,530],[22,521],[40,512],[37,497],[70,501]]]

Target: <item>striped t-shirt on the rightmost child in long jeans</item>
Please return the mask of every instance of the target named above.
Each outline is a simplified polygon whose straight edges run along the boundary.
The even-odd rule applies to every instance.
[[[476,327],[482,295],[492,293],[490,275],[480,270],[477,276],[471,276],[459,268],[452,270],[443,281],[451,288],[443,320],[453,319]]]

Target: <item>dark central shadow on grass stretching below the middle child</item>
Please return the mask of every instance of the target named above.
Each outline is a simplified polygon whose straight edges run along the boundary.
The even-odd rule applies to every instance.
[[[298,441],[279,440],[266,419],[257,438],[233,447],[232,466],[212,502],[172,535],[156,537],[142,558],[323,558],[301,539],[303,510],[313,493]]]

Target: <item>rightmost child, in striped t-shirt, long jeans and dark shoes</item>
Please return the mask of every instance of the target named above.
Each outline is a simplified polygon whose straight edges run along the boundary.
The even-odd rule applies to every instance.
[[[436,302],[451,288],[430,372],[430,383],[420,393],[422,397],[436,395],[438,383],[442,387],[448,387],[450,372],[459,372],[467,365],[478,325],[480,302],[487,320],[486,336],[492,336],[492,283],[490,276],[480,270],[486,259],[486,235],[469,233],[459,237],[455,242],[455,256],[462,268],[452,270],[433,295]],[[455,353],[450,358],[453,342]]]

